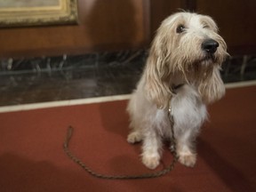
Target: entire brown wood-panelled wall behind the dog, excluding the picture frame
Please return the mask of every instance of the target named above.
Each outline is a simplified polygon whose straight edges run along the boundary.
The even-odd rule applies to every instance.
[[[0,57],[76,54],[147,47],[178,9],[211,15],[231,54],[256,52],[255,0],[77,0],[79,25],[1,28]]]

